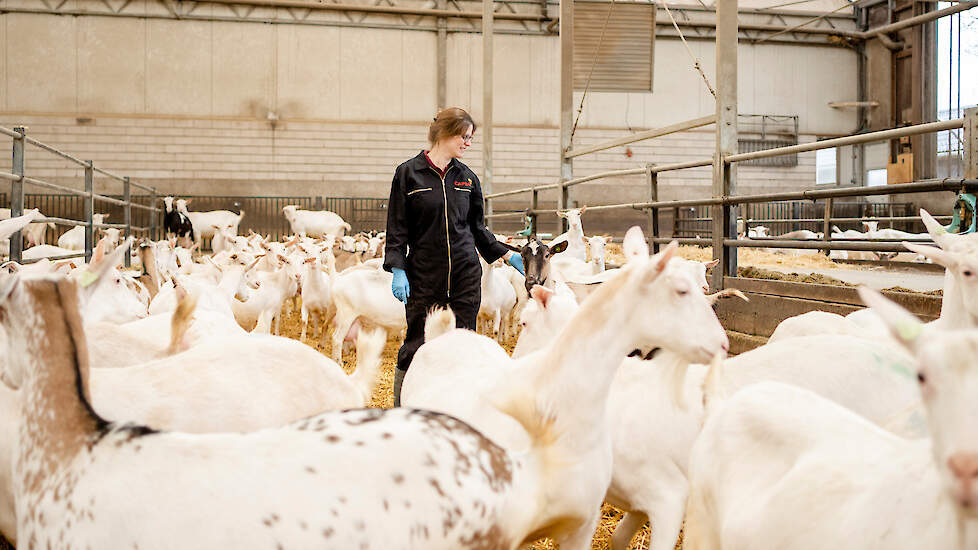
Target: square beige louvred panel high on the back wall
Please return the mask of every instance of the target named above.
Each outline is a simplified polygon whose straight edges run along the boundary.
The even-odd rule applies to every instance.
[[[605,20],[608,21],[607,29],[601,38]],[[575,90],[584,89],[590,74],[588,89],[591,91],[652,91],[654,47],[655,4],[574,4]],[[597,63],[595,52],[598,53]]]

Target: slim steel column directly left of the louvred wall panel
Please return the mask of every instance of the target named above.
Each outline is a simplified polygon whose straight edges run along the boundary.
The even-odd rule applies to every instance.
[[[560,179],[574,177],[573,161],[564,155],[571,148],[574,125],[574,0],[560,0]],[[557,209],[570,206],[570,188],[561,187]],[[561,218],[560,232],[567,231],[567,220]]]

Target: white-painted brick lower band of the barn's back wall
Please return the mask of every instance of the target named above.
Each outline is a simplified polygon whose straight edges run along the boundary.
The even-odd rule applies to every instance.
[[[274,129],[267,121],[202,118],[138,118],[0,114],[0,125],[28,127],[28,135],[71,153],[92,159],[97,166],[162,193],[326,195],[384,197],[394,167],[426,146],[426,124],[287,121]],[[579,129],[575,143],[585,145],[626,134],[624,130]],[[464,159],[482,174],[481,135]],[[495,129],[496,191],[553,183],[559,176],[556,128],[500,127]],[[802,136],[811,141],[814,136]],[[3,138],[0,148],[10,141]],[[575,160],[574,173],[587,175],[642,166],[645,162],[674,163],[712,156],[711,128],[617,147]],[[9,170],[10,154],[0,153],[0,169]],[[50,153],[28,146],[27,173],[32,177],[81,187],[82,171]],[[741,167],[740,192],[800,189],[815,179],[814,153],[799,155],[794,168]],[[643,176],[602,180],[574,188],[582,204],[647,200]],[[662,199],[705,197],[710,194],[711,169],[697,168],[660,175]],[[98,189],[117,192],[111,180],[97,180]],[[39,189],[29,191],[40,192]],[[541,199],[555,202],[556,193]],[[529,196],[509,197],[497,209],[525,207]],[[627,215],[626,215],[627,214]],[[640,213],[604,216],[609,223],[641,220]]]

